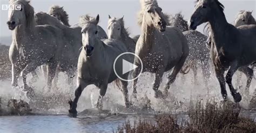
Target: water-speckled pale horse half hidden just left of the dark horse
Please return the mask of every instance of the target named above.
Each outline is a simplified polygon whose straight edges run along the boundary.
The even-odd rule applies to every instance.
[[[211,72],[210,50],[205,45],[207,36],[198,31],[190,30],[187,21],[184,20],[181,13],[177,13],[174,17],[171,17],[170,23],[172,26],[178,27],[187,38],[190,54],[188,55],[185,64],[189,64],[193,60],[191,69],[194,72],[194,83],[198,84],[197,71],[198,67],[201,67],[205,87],[208,91],[208,82],[211,77]]]

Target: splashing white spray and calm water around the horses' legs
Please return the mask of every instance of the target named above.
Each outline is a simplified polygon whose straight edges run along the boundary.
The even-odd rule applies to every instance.
[[[20,88],[11,88],[10,80],[0,81],[0,97],[3,105],[6,105],[11,98],[22,99],[29,102],[33,113],[29,116],[0,116],[0,132],[113,132],[127,120],[132,123],[140,119],[154,121],[154,116],[159,113],[178,114],[179,120],[187,120],[188,117],[184,113],[188,110],[190,101],[206,98],[206,90],[200,79],[199,84],[193,84],[193,79],[184,80],[179,76],[169,90],[169,98],[155,99],[152,84],[149,84],[152,83],[149,81],[153,81],[153,77],[151,74],[144,74],[138,83],[138,100],[132,98],[131,84],[128,86],[133,108],[124,107],[122,92],[110,84],[103,99],[103,109],[106,112],[100,113],[97,109],[92,109],[97,102],[98,90],[95,86],[89,86],[79,99],[78,117],[71,118],[67,115],[69,105],[66,102],[73,97],[75,87],[66,85],[65,76],[59,77],[57,84],[59,88],[50,91],[44,87],[43,78],[31,82],[29,77],[29,84],[36,91],[36,97],[33,99],[28,99]],[[187,77],[193,76],[186,75]],[[221,99],[219,85],[214,76],[212,77],[210,95],[219,101]],[[243,84],[245,79],[244,77]],[[160,89],[166,82],[167,79],[164,77]],[[253,80],[251,93],[255,87],[256,82]],[[145,103],[149,100],[151,108],[145,110]],[[240,105],[242,108],[248,108],[248,100],[244,98]],[[255,111],[242,110],[240,115],[250,117],[256,122]]]

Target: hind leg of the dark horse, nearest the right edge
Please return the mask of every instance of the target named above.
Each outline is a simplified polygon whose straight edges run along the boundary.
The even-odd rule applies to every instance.
[[[252,82],[252,78],[253,78],[253,70],[249,67],[242,67],[242,68],[239,68],[239,71],[243,72],[247,77],[245,94],[249,95],[250,94],[250,86],[251,86],[251,82]]]

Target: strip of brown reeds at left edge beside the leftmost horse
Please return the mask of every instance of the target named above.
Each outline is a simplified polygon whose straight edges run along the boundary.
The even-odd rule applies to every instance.
[[[0,43],[0,80],[11,78],[11,62],[9,60],[9,46]]]

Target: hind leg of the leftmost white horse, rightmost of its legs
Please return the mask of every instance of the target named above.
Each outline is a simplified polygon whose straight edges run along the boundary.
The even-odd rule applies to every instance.
[[[55,77],[57,63],[55,61],[50,61],[47,67],[48,67],[47,85],[48,85],[48,88],[50,89],[52,87],[52,80]]]

